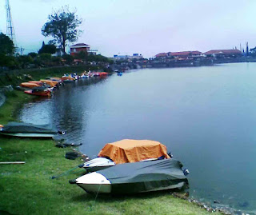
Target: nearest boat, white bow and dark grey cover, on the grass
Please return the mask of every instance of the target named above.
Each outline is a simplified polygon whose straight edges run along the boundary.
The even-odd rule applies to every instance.
[[[87,193],[145,193],[164,189],[181,189],[188,185],[182,163],[174,159],[114,165],[87,173],[70,184]]]

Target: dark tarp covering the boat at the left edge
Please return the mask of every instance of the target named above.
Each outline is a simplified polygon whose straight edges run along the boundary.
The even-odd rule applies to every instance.
[[[34,125],[24,122],[9,122],[2,128],[3,133],[58,133],[51,125]]]

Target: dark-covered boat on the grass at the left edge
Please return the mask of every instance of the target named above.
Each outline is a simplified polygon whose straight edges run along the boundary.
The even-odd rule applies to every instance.
[[[13,137],[52,138],[64,132],[54,129],[51,125],[34,125],[25,122],[9,122],[0,128],[0,134]]]

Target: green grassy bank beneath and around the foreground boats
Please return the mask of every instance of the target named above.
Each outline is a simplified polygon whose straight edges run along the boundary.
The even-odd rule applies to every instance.
[[[22,92],[10,93],[0,107],[0,124],[14,121],[15,110],[29,99]],[[209,214],[170,191],[95,199],[68,183],[84,172],[79,168],[52,179],[82,161],[67,160],[64,155],[71,149],[56,148],[51,140],[0,136],[0,148],[0,161],[26,161],[0,165],[0,214]]]

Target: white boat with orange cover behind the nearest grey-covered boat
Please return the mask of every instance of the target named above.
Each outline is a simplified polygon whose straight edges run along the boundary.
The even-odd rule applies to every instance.
[[[169,159],[166,145],[158,141],[124,139],[107,143],[98,153],[98,157],[79,165],[86,172],[106,169],[122,163]]]

